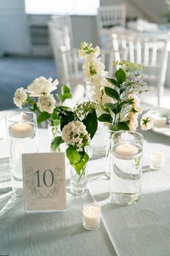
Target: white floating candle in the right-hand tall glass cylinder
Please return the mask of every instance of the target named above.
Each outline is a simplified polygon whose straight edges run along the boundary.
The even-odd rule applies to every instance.
[[[123,143],[115,148],[115,156],[120,159],[130,160],[136,158],[138,148],[130,143]]]

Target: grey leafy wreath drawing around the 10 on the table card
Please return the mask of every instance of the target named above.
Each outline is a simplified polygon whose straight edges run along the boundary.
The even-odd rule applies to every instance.
[[[50,171],[50,169],[45,170]],[[37,176],[40,175],[38,171],[33,171],[33,168],[30,166],[26,170],[26,174],[28,179],[25,180],[25,184],[30,189],[30,193],[33,197],[38,197],[38,199],[47,199],[52,198],[55,195],[58,195],[58,192],[60,190],[61,184],[63,184],[63,179],[60,179],[60,175],[62,173],[61,168],[58,168],[58,166],[55,166],[55,171],[50,171],[50,174],[52,174],[52,182],[51,186],[46,185],[46,187],[51,187],[47,195],[43,195],[42,192],[40,192],[40,184],[35,182],[35,174],[37,173]],[[44,172],[45,174],[45,172]],[[38,176],[39,177],[39,176]],[[43,177],[44,178],[44,177]],[[39,181],[40,182],[40,181]]]

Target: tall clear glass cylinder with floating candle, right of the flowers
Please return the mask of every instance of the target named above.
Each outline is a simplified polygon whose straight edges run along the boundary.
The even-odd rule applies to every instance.
[[[111,138],[110,200],[120,205],[133,205],[141,194],[143,135],[119,131]]]

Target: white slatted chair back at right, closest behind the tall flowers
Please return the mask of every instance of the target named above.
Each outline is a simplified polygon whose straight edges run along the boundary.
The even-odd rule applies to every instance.
[[[160,106],[164,95],[169,35],[161,39],[154,36],[113,34],[112,44],[117,61],[125,59],[146,67],[143,78],[149,86],[157,87],[158,106]]]

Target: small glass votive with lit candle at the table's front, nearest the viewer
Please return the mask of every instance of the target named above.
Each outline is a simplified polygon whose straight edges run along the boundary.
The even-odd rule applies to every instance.
[[[88,230],[99,229],[101,223],[101,206],[87,202],[83,207],[83,226]]]

